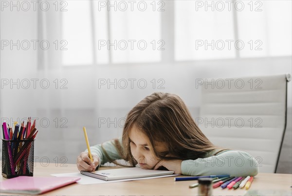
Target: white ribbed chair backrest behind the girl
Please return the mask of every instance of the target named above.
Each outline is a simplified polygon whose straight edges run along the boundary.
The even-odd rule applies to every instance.
[[[202,94],[196,123],[215,145],[246,151],[256,158],[259,172],[274,173],[286,128],[290,79],[283,74],[197,80]]]

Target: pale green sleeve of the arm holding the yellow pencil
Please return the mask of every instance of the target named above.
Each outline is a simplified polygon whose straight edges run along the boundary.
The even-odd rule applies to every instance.
[[[118,139],[119,143],[121,144],[122,148],[122,137]],[[102,148],[103,147],[103,148]],[[118,149],[115,147],[114,140],[110,140],[108,142],[104,142],[102,144],[96,144],[90,147],[90,151],[92,155],[97,155],[100,158],[100,164],[103,165],[106,162],[111,162],[111,160],[118,160],[122,159],[121,155],[118,152]],[[86,149],[85,152],[88,152]],[[108,155],[108,157],[106,156]]]

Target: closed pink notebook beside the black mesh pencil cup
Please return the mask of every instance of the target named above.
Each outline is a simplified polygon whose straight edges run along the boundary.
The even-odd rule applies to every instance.
[[[1,193],[41,194],[79,180],[79,177],[29,177],[19,176],[0,181]]]

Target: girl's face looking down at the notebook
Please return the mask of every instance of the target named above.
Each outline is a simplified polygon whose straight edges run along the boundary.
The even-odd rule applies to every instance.
[[[160,160],[152,153],[154,149],[151,149],[148,138],[135,125],[129,132],[129,140],[132,156],[137,160],[139,166],[142,169],[153,169]],[[163,155],[168,153],[165,143],[155,142],[154,148]]]

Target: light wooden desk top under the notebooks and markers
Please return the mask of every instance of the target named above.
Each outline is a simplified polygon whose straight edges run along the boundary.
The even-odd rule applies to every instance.
[[[47,167],[41,166],[37,163],[34,168],[34,176],[50,176],[50,174],[57,173],[71,173],[78,172],[75,164],[67,164],[67,167],[61,167],[61,165],[55,165],[51,163]],[[109,169],[113,167],[100,167],[100,169]],[[114,182],[104,184],[71,184],[51,192],[45,193],[45,195],[160,195],[160,196],[194,196],[198,194],[198,187],[188,188],[190,184],[197,183],[197,180],[192,181],[173,181],[174,177],[169,178],[155,178],[146,180],[134,180],[125,182]],[[0,181],[6,180],[1,176]],[[280,190],[288,192],[288,195],[292,195],[292,175],[291,174],[258,174],[249,190]],[[232,195],[242,196],[246,194],[246,190],[227,190],[216,188],[213,189],[213,195]],[[5,194],[7,195],[7,194]]]

